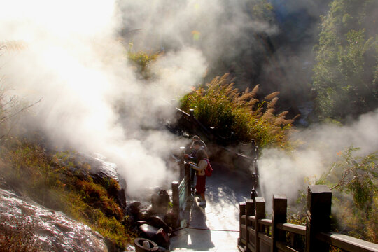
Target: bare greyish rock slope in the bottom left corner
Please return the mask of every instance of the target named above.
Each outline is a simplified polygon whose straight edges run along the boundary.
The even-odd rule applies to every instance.
[[[13,239],[22,241],[21,245]],[[8,244],[7,244],[8,243]],[[34,246],[42,251],[108,251],[102,235],[61,212],[0,189],[0,244]],[[13,251],[18,251],[15,247]]]

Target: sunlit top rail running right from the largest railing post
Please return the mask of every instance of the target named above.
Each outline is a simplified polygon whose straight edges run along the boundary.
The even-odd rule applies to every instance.
[[[347,235],[340,235],[335,232],[319,232],[316,235],[319,239],[327,244],[331,244],[344,251],[350,252],[378,252],[378,244],[369,241],[363,241]]]

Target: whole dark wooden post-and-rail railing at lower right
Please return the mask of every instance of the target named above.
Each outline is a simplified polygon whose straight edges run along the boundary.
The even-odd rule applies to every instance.
[[[342,252],[378,252],[378,244],[330,232],[331,200],[326,186],[309,186],[306,226],[286,223],[286,196],[273,195],[272,220],[265,218],[264,198],[241,202],[239,251],[328,252],[333,246]]]

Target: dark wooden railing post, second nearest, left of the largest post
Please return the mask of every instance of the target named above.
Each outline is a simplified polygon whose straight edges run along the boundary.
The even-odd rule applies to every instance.
[[[278,252],[276,242],[286,241],[286,232],[277,228],[278,223],[286,223],[286,211],[288,199],[285,195],[273,195],[273,216],[272,216],[272,252]]]

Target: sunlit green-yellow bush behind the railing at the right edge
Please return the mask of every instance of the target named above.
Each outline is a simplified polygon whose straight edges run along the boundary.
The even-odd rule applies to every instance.
[[[354,151],[358,148],[352,146],[337,153],[340,160],[318,183],[335,190],[332,203],[341,213],[338,228],[353,237],[377,243],[378,152],[358,157],[353,155]]]

